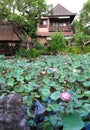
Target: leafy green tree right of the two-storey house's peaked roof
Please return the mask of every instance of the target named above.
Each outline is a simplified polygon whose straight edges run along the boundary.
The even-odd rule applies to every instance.
[[[90,0],[83,5],[78,19],[73,21],[72,26],[75,28],[76,33],[90,34]]]

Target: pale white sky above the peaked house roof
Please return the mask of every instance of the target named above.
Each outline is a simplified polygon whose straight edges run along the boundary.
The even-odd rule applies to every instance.
[[[72,13],[79,14],[83,4],[86,3],[87,0],[46,0],[46,2],[47,4],[52,4],[53,6],[61,4]]]

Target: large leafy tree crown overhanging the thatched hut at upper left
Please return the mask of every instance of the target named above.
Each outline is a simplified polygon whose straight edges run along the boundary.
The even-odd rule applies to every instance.
[[[34,36],[42,12],[47,10],[45,0],[1,0],[0,21],[7,18],[20,24]]]

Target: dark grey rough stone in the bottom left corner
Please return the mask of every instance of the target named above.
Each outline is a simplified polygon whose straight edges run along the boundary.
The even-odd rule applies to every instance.
[[[0,130],[30,130],[19,94],[11,93],[0,99]]]

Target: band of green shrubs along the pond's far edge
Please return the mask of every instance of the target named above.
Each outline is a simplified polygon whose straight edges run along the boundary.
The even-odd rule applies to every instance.
[[[60,54],[86,54],[90,52],[90,45],[83,44],[84,41],[87,41],[89,36],[76,33],[71,39],[65,40],[62,34],[55,33],[52,36],[52,40],[49,41],[47,46],[34,41],[34,46],[30,48],[28,51],[21,47],[19,51],[16,52],[16,56],[26,57],[26,58],[36,58],[42,54],[52,54],[60,53]],[[66,43],[74,42],[70,46],[66,46]]]

